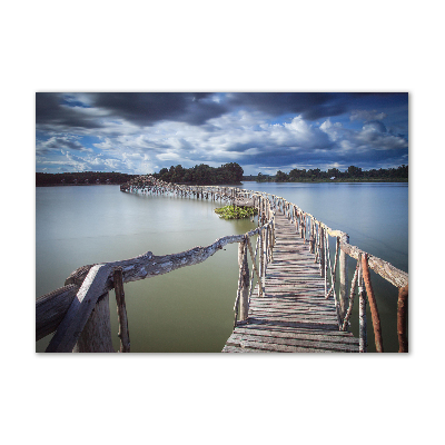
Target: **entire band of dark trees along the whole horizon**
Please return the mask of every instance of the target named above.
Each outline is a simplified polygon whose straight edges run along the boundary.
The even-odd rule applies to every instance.
[[[121,185],[140,175],[128,175],[116,171],[82,171],[63,174],[36,172],[36,187],[51,186],[93,186]],[[240,185],[241,181],[256,182],[408,182],[408,166],[398,168],[380,168],[362,170],[349,166],[345,171],[330,168],[327,171],[316,169],[293,169],[288,174],[278,170],[276,175],[244,175],[243,167],[236,162],[225,164],[221,167],[210,167],[205,164],[191,168],[171,166],[152,174],[157,179],[181,185]]]

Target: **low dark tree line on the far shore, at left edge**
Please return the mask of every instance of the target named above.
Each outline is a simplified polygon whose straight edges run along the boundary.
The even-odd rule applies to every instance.
[[[123,184],[139,175],[116,171],[81,171],[67,174],[36,174],[36,186],[85,185],[85,184]]]

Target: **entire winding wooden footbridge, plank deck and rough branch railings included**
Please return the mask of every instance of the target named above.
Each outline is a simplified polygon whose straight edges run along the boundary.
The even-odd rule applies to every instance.
[[[376,350],[383,352],[369,269],[399,289],[399,352],[408,350],[408,275],[349,245],[347,234],[330,229],[296,205],[264,192],[234,187],[181,186],[151,176],[134,179],[120,189],[247,205],[258,210],[258,228],[179,254],[154,256],[147,251],[136,258],[80,267],[67,278],[63,287],[36,301],[36,339],[56,333],[47,352],[113,352],[108,303],[111,289],[115,289],[117,298],[120,352],[130,352],[123,284],[201,263],[231,243],[239,246],[239,277],[234,332],[222,348],[224,353],[364,353],[367,346],[367,303]],[[335,254],[330,253],[329,236],[336,241]],[[357,260],[350,286],[347,283],[347,257]],[[356,296],[359,338],[348,332]]]

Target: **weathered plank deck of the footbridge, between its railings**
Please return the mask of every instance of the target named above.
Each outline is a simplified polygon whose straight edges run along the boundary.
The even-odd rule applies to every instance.
[[[338,330],[333,297],[308,243],[276,215],[274,260],[266,273],[265,296],[255,289],[246,324],[238,325],[222,353],[353,353],[358,338]]]

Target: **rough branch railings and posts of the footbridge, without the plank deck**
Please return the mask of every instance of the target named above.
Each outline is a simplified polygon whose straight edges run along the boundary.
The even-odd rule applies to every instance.
[[[255,288],[261,297],[265,294],[265,278],[268,264],[274,257],[275,215],[281,211],[295,225],[296,235],[308,245],[314,254],[314,263],[319,264],[320,276],[325,278],[325,297],[334,297],[339,330],[346,330],[353,310],[354,295],[358,285],[359,296],[359,345],[366,352],[366,298],[372,309],[376,349],[383,352],[382,333],[377,304],[372,290],[368,269],[373,269],[399,289],[397,312],[397,334],[399,352],[407,352],[406,313],[408,296],[408,274],[374,257],[356,246],[349,245],[348,235],[333,230],[313,215],[303,211],[286,199],[259,191],[236,187],[186,186],[165,182],[152,176],[142,176],[120,186],[121,191],[151,195],[171,195],[184,198],[229,201],[237,198],[251,200],[258,209],[258,227],[243,235],[231,235],[217,239],[206,247],[195,247],[179,254],[154,256],[151,251],[113,263],[82,266],[66,280],[65,286],[43,295],[36,301],[36,339],[56,332],[46,352],[112,352],[109,323],[105,320],[109,291],[115,288],[118,303],[120,352],[129,352],[130,340],[123,298],[123,284],[164,275],[181,267],[205,261],[224,246],[239,243],[238,288],[235,299],[234,328],[246,323],[249,300]],[[250,238],[257,236],[255,250]],[[336,238],[336,249],[330,257],[328,237]],[[347,293],[347,256],[357,259],[357,267],[349,294]],[[251,274],[248,257],[253,265]],[[258,263],[258,264],[257,264]],[[339,286],[336,291],[336,276],[339,269]],[[365,286],[364,286],[365,283]],[[366,288],[366,293],[365,293]],[[108,309],[109,310],[109,309]],[[105,314],[105,315],[103,315]],[[108,314],[109,316],[109,314]],[[85,334],[95,333],[96,343]],[[86,338],[82,338],[86,337]],[[79,347],[79,345],[83,345]],[[378,346],[377,346],[378,345]]]

